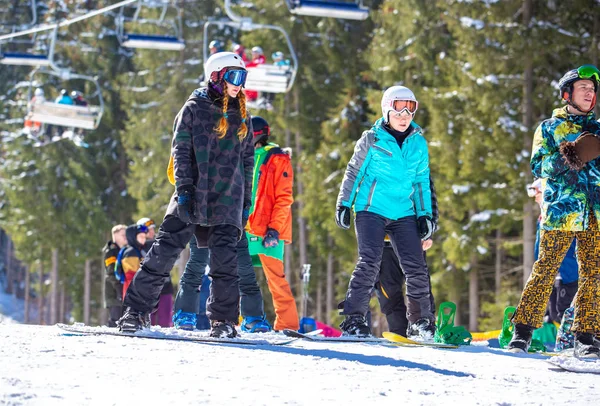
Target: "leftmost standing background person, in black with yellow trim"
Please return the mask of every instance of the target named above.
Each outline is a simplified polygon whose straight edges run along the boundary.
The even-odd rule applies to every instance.
[[[115,263],[121,248],[127,245],[125,224],[117,224],[111,230],[112,239],[106,243],[104,253],[104,308],[108,310],[108,327],[116,327],[123,314],[123,287],[115,278]]]

